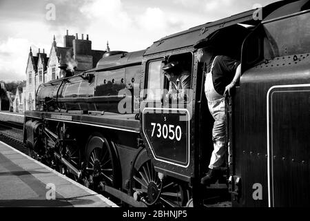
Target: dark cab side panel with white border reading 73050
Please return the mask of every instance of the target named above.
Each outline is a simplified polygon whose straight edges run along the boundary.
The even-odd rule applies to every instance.
[[[143,133],[156,160],[182,167],[189,164],[189,112],[145,108]]]

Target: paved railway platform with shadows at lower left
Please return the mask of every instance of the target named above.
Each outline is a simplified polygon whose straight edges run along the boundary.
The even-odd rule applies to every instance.
[[[0,206],[118,207],[1,141]]]

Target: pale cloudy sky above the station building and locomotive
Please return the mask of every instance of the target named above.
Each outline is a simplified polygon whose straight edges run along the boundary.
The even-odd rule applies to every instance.
[[[167,35],[275,0],[0,0],[0,80],[25,80],[30,47],[89,35],[92,49],[143,50]],[[256,7],[254,7],[256,6]]]

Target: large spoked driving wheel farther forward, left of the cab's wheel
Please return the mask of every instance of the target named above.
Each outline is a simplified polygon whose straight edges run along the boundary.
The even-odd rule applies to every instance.
[[[96,191],[100,190],[101,182],[116,186],[116,158],[102,135],[93,135],[87,143],[85,174],[85,185]]]

